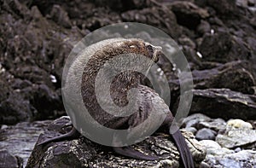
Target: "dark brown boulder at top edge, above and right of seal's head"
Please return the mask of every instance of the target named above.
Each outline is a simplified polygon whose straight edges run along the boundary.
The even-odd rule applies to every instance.
[[[177,23],[195,30],[196,26],[201,23],[201,19],[206,19],[209,14],[206,9],[201,9],[195,3],[187,1],[176,1],[170,3],[168,8],[172,9],[177,17]]]

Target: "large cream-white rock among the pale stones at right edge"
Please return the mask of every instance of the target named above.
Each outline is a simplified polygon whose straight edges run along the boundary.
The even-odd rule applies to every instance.
[[[216,136],[216,142],[225,148],[238,148],[256,144],[256,130],[241,119],[230,120],[226,130]],[[248,136],[250,135],[250,136]]]

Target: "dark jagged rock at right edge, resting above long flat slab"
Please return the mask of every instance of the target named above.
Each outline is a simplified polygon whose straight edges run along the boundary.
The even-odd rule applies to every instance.
[[[251,72],[248,72],[248,62],[231,61],[227,64],[192,72],[195,89],[228,88],[245,94],[253,94],[256,84]]]

